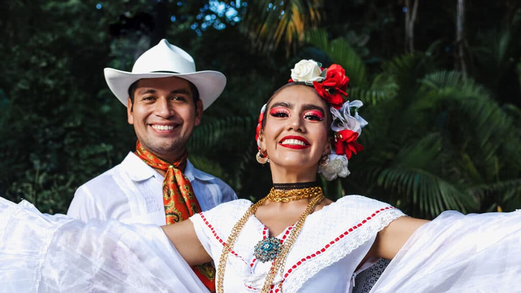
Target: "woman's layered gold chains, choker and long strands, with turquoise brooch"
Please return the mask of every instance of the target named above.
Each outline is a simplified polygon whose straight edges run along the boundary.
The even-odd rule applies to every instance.
[[[244,213],[235,226],[233,226],[230,236],[228,237],[226,243],[224,243],[224,247],[222,248],[221,256],[219,258],[219,265],[217,266],[217,293],[224,293],[223,282],[228,255],[231,251],[233,251],[235,241],[237,240],[237,237],[239,236],[242,228],[248,219],[255,213],[255,211],[257,211],[258,207],[263,205],[266,200],[289,202],[298,199],[311,198],[306,207],[306,210],[295,223],[286,242],[281,244],[280,240],[277,238],[269,237],[267,240],[265,239],[259,241],[259,243],[255,246],[255,253],[259,253],[262,255],[262,257],[264,257],[264,260],[262,260],[263,262],[269,260],[273,261],[266,280],[264,281],[261,293],[269,293],[271,289],[271,283],[273,282],[277,272],[280,271],[282,275],[282,270],[284,268],[284,263],[286,263],[288,253],[295,243],[297,236],[299,236],[299,233],[304,226],[304,221],[306,221],[306,217],[315,209],[317,204],[324,199],[324,193],[322,193],[322,189],[317,186],[301,189],[290,189],[285,191],[286,192],[280,189],[275,189],[275,187],[272,188],[268,196],[250,206],[250,208],[246,211],[246,213]],[[282,292],[282,283],[279,283],[279,290]]]

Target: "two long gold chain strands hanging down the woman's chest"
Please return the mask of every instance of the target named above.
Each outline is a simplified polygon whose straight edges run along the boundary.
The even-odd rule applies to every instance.
[[[307,188],[306,188],[307,189]],[[322,189],[318,187],[318,190],[316,191],[316,195],[314,198],[309,201],[306,210],[304,213],[299,217],[298,221],[296,222],[295,226],[291,230],[291,234],[288,237],[288,240],[284,242],[281,246],[281,250],[277,255],[277,258],[272,262],[271,268],[268,272],[268,276],[266,277],[266,280],[264,281],[264,286],[261,289],[261,293],[269,293],[271,289],[271,283],[273,282],[275,275],[279,270],[282,270],[284,268],[284,263],[286,263],[286,258],[288,257],[288,253],[291,250],[291,247],[296,241],[296,237],[299,236],[300,231],[302,230],[302,227],[304,226],[304,221],[306,220],[307,215],[311,213],[318,203],[320,203],[324,199],[324,193],[322,193]],[[269,196],[269,194],[268,194]],[[248,221],[248,219],[257,211],[258,207],[264,204],[266,200],[268,199],[268,196],[259,200],[244,213],[244,215],[239,219],[237,223],[235,223],[235,226],[233,226],[230,236],[228,236],[228,239],[226,243],[224,244],[224,247],[222,248],[221,257],[219,258],[219,265],[217,266],[217,280],[216,280],[216,287],[217,287],[217,293],[224,293],[224,275],[225,275],[225,268],[226,268],[226,262],[228,260],[228,255],[231,251],[233,251],[233,246],[235,245],[235,241],[237,240],[237,237],[239,236],[239,233],[241,232],[242,228]],[[308,196],[308,197],[312,197]],[[282,292],[282,283],[279,283],[279,289],[280,292]]]

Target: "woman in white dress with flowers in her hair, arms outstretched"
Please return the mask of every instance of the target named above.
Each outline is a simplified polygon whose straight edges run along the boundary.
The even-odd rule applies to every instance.
[[[355,141],[367,124],[356,112],[362,103],[343,101],[348,78],[338,65],[323,70],[313,60],[303,60],[291,77],[259,117],[257,160],[269,161],[274,182],[266,198],[255,204],[221,204],[190,221],[163,227],[175,248],[154,227],[84,225],[41,215],[27,204],[0,202],[5,218],[0,221],[0,239],[9,237],[0,252],[0,288],[205,291],[188,265],[213,260],[218,292],[345,292],[351,291],[357,269],[379,258],[393,259],[399,251],[400,261],[391,262],[392,270],[373,291],[483,288],[491,285],[485,280],[490,274],[475,267],[484,259],[487,265],[482,267],[492,272],[501,265],[501,270],[510,270],[493,275],[500,280],[494,288],[516,280],[520,269],[512,256],[521,252],[521,213],[450,214],[424,225],[427,221],[365,197],[326,199],[316,174],[328,179],[349,174],[348,159],[362,149]],[[474,227],[480,233],[472,232]],[[499,233],[498,227],[503,228]],[[418,228],[422,234],[407,241]],[[455,230],[445,235],[450,229]],[[489,238],[477,247],[467,243],[472,236]],[[34,241],[27,245],[26,239]],[[429,254],[423,252],[427,249]],[[410,279],[416,281],[411,284]]]

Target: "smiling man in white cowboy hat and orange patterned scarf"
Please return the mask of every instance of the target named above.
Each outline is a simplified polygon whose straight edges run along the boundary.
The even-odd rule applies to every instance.
[[[193,58],[163,39],[136,60],[132,72],[105,68],[105,79],[127,106],[136,151],[80,186],[67,215],[165,225],[237,199],[227,184],[187,160],[193,128],[226,85],[221,72],[195,71]],[[214,290],[211,265],[194,271]]]

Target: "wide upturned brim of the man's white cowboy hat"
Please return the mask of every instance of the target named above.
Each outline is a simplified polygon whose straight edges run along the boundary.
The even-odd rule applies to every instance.
[[[219,97],[226,86],[226,76],[219,71],[213,70],[196,71],[188,74],[165,72],[137,74],[114,68],[105,68],[103,71],[105,73],[105,80],[107,81],[108,88],[125,106],[127,106],[127,100],[129,97],[128,89],[131,84],[142,78],[176,76],[192,82],[199,91],[199,98],[203,102],[203,109],[208,108],[208,106],[217,100],[217,97]]]

